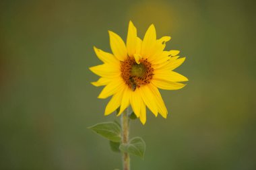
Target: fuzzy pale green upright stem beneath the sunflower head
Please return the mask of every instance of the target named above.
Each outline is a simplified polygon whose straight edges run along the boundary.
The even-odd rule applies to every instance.
[[[122,143],[127,144],[129,142],[129,117],[127,110],[125,110],[121,117],[122,124]],[[130,170],[130,157],[129,153],[123,153],[123,170]]]

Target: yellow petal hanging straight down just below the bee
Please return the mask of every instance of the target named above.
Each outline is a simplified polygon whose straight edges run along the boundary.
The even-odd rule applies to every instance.
[[[137,89],[137,91],[133,91],[130,98],[131,108],[133,109],[133,112],[137,116],[137,118],[139,118],[141,112],[141,97],[138,90],[139,89]]]

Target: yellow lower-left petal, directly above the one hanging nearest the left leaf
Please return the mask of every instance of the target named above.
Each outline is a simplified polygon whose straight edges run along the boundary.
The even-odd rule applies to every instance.
[[[121,79],[115,79],[108,83],[104,89],[102,89],[100,95],[98,95],[99,99],[106,99],[106,97],[109,97],[110,95],[113,95],[123,89],[124,82]]]

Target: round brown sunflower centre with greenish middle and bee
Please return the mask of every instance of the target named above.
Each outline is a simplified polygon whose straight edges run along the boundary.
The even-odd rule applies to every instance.
[[[135,59],[130,56],[121,62],[121,77],[132,91],[150,83],[154,75],[154,69],[148,62],[148,58],[141,58],[139,62],[137,64]]]

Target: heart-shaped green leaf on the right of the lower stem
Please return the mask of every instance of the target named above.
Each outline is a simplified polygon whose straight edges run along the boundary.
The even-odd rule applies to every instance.
[[[141,159],[143,159],[144,153],[146,150],[146,144],[142,138],[135,137],[135,138],[132,138],[128,144],[121,144],[120,150],[123,153],[136,155],[138,157],[141,157]]]

